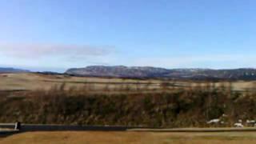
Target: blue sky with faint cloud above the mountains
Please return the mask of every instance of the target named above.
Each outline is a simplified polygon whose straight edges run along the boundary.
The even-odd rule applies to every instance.
[[[256,68],[255,0],[0,0],[0,66]]]

